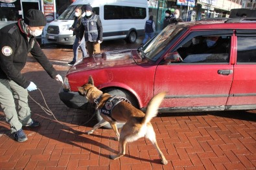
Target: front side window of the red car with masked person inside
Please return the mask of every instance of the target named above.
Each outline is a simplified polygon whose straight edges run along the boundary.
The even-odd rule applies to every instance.
[[[231,36],[196,36],[177,49],[183,63],[228,63]]]

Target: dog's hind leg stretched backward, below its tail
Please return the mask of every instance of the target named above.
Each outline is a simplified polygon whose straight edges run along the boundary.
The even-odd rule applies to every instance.
[[[145,137],[148,138],[148,140],[150,140],[150,142],[153,143],[154,147],[156,147],[156,150],[159,154],[159,157],[161,158],[161,163],[164,164],[164,165],[168,164],[168,161],[165,159],[165,156],[163,155],[159,146],[157,145],[156,133],[155,133],[153,127],[152,127],[152,124],[148,123],[147,127],[148,127],[148,129],[147,129]]]

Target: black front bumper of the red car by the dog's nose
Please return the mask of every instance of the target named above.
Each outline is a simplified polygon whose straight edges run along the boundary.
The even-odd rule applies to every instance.
[[[62,100],[62,102],[70,108],[73,109],[82,109],[82,110],[86,110],[87,109],[87,105],[88,105],[88,101],[87,99],[80,95],[78,92],[71,92],[71,91],[64,91],[63,88],[60,88],[59,91],[59,96],[60,96],[60,100]]]

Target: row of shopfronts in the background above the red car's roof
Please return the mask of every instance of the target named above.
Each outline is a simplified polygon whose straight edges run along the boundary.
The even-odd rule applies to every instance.
[[[233,8],[242,8],[243,0],[148,0],[149,15],[154,16],[157,31],[163,27],[165,11],[180,10],[184,21],[198,21],[204,17],[229,17]],[[249,0],[256,1],[256,0]],[[250,4],[249,4],[250,6]],[[253,6],[253,5],[252,5]]]

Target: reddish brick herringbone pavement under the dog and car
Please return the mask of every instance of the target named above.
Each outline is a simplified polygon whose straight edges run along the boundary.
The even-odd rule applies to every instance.
[[[62,76],[69,69],[71,48],[45,48],[45,54]],[[161,165],[154,147],[141,138],[129,143],[126,155],[110,160],[118,143],[113,130],[98,129],[89,136],[84,131],[96,123],[86,111],[69,109],[60,101],[60,85],[29,58],[23,73],[42,90],[56,118],[52,120],[29,100],[32,118],[41,126],[25,128],[29,140],[15,142],[0,110],[0,169],[255,169],[256,111],[159,114],[152,120],[159,147],[168,165]],[[29,92],[43,103],[38,90]]]

